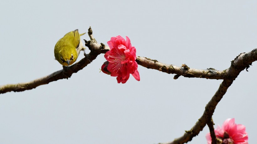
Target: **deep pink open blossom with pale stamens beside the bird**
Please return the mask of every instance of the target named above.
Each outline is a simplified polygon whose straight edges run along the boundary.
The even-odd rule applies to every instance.
[[[105,59],[109,62],[107,69],[111,76],[117,76],[118,83],[126,83],[129,74],[132,74],[136,80],[140,80],[137,70],[136,48],[131,46],[130,39],[126,36],[112,37],[107,42],[110,50],[104,54]]]

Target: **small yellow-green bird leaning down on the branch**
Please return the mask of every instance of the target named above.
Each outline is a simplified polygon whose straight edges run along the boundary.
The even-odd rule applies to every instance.
[[[76,29],[58,40],[55,44],[55,59],[60,64],[70,66],[77,60],[81,50],[84,50],[85,53],[86,48],[80,40],[80,36],[83,34],[85,33],[79,34],[78,29]]]

